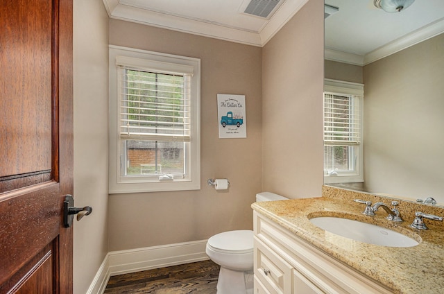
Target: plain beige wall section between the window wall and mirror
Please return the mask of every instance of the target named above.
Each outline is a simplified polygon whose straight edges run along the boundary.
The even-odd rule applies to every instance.
[[[323,184],[323,1],[309,1],[264,46],[264,191],[321,196]]]

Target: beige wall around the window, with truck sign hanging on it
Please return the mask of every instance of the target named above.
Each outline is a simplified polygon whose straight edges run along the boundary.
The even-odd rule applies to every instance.
[[[262,190],[262,49],[116,19],[110,19],[110,44],[200,58],[201,189],[111,195],[108,249],[252,229],[250,205]],[[219,139],[216,94],[246,95],[246,139]],[[228,178],[231,187],[216,191],[208,178]]]

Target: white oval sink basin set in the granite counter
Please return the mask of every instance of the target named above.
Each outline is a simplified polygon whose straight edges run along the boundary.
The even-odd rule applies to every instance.
[[[310,218],[310,221],[327,232],[364,243],[388,247],[413,247],[419,244],[404,234],[358,220],[321,216]]]

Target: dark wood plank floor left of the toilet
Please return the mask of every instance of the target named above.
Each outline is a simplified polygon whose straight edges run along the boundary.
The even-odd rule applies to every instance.
[[[210,261],[187,263],[110,277],[105,294],[216,294],[219,266]]]

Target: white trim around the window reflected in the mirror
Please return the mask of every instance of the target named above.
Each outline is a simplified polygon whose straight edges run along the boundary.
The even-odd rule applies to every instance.
[[[357,148],[357,174],[356,175],[328,175],[324,173],[324,184],[338,184],[348,182],[364,182],[364,84],[331,80],[325,78],[324,92],[330,94],[348,94],[361,96],[359,108],[361,112],[361,144]]]

